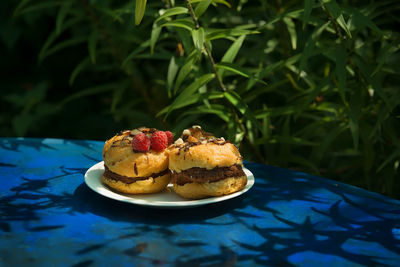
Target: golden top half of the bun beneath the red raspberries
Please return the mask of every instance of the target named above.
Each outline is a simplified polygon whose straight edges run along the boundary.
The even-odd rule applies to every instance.
[[[128,177],[147,177],[165,170],[168,167],[167,149],[160,152],[135,152],[132,148],[132,140],[136,134],[155,131],[152,128],[121,131],[107,140],[103,147],[104,164],[112,172]]]

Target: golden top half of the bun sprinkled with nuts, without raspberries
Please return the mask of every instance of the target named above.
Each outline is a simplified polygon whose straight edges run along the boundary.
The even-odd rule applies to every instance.
[[[187,130],[183,132],[183,138],[178,139],[169,148],[171,170],[181,172],[193,167],[210,170],[215,167],[243,164],[239,150],[229,141],[215,138],[202,130],[195,130],[198,137],[196,138]]]

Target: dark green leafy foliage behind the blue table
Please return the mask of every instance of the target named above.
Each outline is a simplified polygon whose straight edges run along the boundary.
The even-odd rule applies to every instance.
[[[400,198],[397,1],[187,2],[1,3],[1,135],[200,124],[247,160]]]

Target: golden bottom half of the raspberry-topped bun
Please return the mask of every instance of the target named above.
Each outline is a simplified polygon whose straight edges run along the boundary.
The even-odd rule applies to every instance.
[[[139,180],[131,184],[122,181],[116,181],[104,175],[101,177],[103,184],[109,186],[115,191],[126,194],[151,194],[163,191],[171,181],[171,174],[168,173],[157,178],[149,177],[146,180]]]

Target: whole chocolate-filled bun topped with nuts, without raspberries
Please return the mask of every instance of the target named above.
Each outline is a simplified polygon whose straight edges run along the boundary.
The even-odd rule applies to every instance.
[[[232,194],[247,184],[235,145],[193,126],[170,146],[174,191],[188,199]]]

